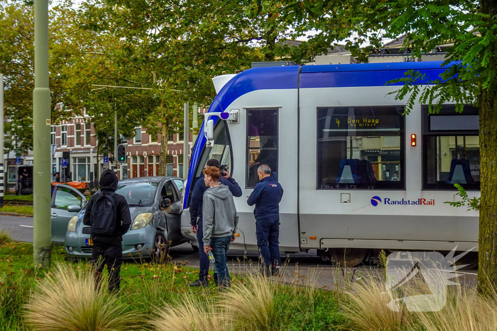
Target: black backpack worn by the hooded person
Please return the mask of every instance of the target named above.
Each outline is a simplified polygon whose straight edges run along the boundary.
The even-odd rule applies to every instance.
[[[91,234],[112,235],[116,231],[115,193],[100,193],[91,207]]]

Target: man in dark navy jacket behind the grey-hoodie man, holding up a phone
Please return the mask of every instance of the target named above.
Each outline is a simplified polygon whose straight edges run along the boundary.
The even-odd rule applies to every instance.
[[[216,167],[219,169],[219,161],[210,159],[207,161],[207,167]],[[224,171],[222,177],[219,179],[221,185],[227,186],[234,197],[240,198],[242,196],[242,189],[233,177],[227,171]],[[190,203],[190,222],[191,230],[197,234],[198,254],[200,260],[200,272],[198,279],[190,284],[190,286],[207,286],[207,275],[209,273],[209,257],[204,252],[204,234],[202,223],[202,203],[204,192],[208,187],[205,185],[204,177],[200,178],[193,188],[191,203]],[[217,281],[217,275],[214,274],[214,280]]]

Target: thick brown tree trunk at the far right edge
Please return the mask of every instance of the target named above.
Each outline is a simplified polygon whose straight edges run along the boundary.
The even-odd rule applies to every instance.
[[[481,1],[481,12],[490,17],[497,14],[497,0]],[[487,28],[494,24],[486,18]],[[495,38],[495,37],[494,37]],[[487,75],[497,72],[497,45],[489,45],[493,54]],[[491,295],[497,290],[497,88],[490,84],[480,90],[480,235],[478,253],[478,292]]]

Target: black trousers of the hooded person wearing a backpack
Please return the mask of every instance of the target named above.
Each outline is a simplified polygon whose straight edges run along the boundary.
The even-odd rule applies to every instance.
[[[95,288],[100,289],[102,280],[102,271],[105,265],[109,271],[109,292],[119,292],[119,283],[121,281],[119,272],[123,261],[122,244],[93,243],[91,253],[91,263],[93,275],[95,277]]]

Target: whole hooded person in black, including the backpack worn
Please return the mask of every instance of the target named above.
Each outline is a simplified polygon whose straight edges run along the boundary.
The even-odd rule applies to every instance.
[[[83,217],[83,224],[91,226],[91,263],[96,288],[100,288],[105,264],[109,271],[109,292],[119,292],[122,236],[131,225],[128,202],[115,193],[116,188],[117,176],[112,170],[105,170],[100,176],[100,192],[89,199]]]

